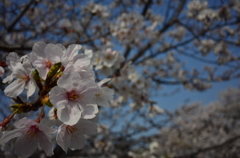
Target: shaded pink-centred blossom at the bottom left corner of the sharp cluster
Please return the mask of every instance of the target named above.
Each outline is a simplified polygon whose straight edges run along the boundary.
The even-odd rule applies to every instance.
[[[45,125],[36,123],[26,117],[14,123],[13,131],[3,133],[0,143],[4,144],[13,138],[17,138],[14,145],[14,152],[21,157],[31,156],[38,148],[38,144],[45,151],[47,156],[53,155],[51,134],[56,130]]]

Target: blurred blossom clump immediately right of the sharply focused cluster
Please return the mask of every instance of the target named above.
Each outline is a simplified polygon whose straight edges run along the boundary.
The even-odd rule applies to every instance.
[[[92,65],[99,74],[112,76],[108,86],[113,87],[117,96],[111,100],[112,107],[119,107],[123,102],[129,102],[132,109],[140,109],[149,103],[148,92],[152,86],[150,78],[144,78],[137,68],[128,62],[122,65],[124,56],[111,48],[93,55]]]

